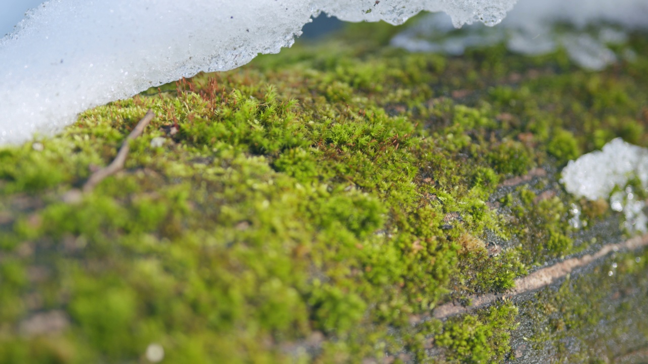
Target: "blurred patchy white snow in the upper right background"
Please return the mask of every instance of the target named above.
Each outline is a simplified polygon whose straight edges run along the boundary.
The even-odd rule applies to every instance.
[[[572,30],[563,27],[555,34],[556,23],[569,25]],[[448,54],[462,54],[467,47],[501,41],[511,51],[522,54],[542,54],[562,46],[581,67],[599,70],[617,60],[608,44],[624,41],[625,30],[648,28],[648,1],[519,0],[498,27],[476,24],[452,34],[450,24],[443,14],[430,14],[415,27],[397,34],[392,45],[410,51]],[[445,36],[448,33],[450,36]]]

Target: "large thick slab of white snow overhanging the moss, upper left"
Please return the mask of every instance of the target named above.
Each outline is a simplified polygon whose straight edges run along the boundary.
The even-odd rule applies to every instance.
[[[23,1],[23,0],[10,0]],[[292,45],[319,12],[399,24],[421,10],[494,25],[515,0],[52,0],[0,40],[0,144],[149,87]]]

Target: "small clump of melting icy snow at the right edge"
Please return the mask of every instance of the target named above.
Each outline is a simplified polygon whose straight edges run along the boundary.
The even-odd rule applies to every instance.
[[[612,210],[623,211],[629,231],[646,232],[645,201],[637,199],[632,187],[626,186],[634,178],[641,188],[648,188],[648,149],[616,138],[605,144],[603,150],[570,161],[562,170],[561,182],[575,196],[591,201],[609,200]],[[621,189],[612,193],[614,187]]]

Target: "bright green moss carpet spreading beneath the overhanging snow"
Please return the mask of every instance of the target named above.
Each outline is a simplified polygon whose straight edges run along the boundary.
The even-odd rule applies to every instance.
[[[0,148],[0,363],[146,363],[150,343],[165,363],[513,355],[513,301],[410,322],[607,242],[568,209],[589,227],[612,212],[555,172],[614,137],[648,145],[648,41],[588,73],[562,51],[409,54],[384,47],[393,31],[353,25]],[[126,170],[62,201],[149,108]],[[33,324],[52,312],[63,324]]]

